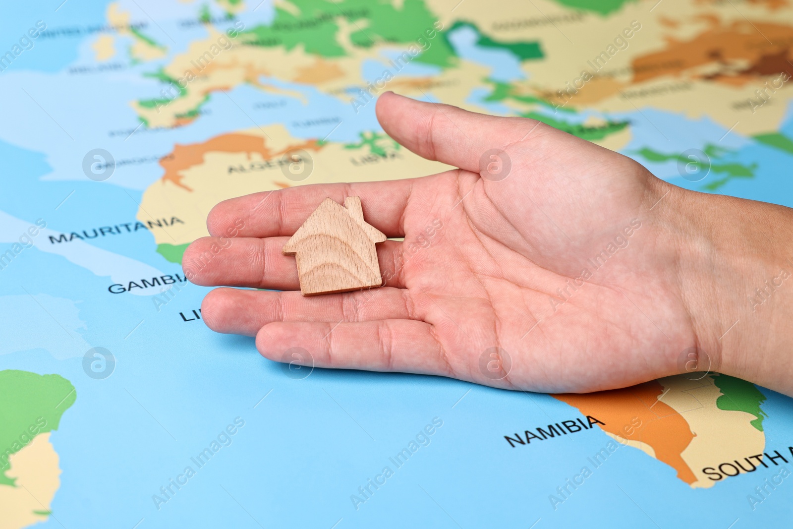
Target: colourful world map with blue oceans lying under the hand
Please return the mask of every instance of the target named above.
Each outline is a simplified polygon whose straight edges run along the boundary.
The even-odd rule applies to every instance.
[[[790,519],[793,402],[685,351],[592,394],[313,369],[182,271],[226,198],[448,169],[385,90],[793,206],[790,0],[56,0],[0,35],[0,529]]]

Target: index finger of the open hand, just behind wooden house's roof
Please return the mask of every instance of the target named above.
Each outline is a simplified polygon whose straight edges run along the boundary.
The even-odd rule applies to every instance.
[[[209,212],[206,226],[216,237],[292,236],[326,197],[343,204],[358,196],[367,223],[385,236],[404,237],[402,217],[417,179],[311,184],[230,198]]]

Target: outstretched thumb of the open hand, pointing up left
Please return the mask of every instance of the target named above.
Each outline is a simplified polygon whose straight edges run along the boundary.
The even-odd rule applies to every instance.
[[[393,92],[377,98],[377,120],[389,136],[417,155],[473,173],[484,170],[491,149],[503,151],[538,133],[572,137],[527,117],[488,116]]]

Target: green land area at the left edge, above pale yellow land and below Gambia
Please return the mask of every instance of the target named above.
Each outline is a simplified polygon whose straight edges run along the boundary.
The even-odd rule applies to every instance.
[[[75,386],[58,374],[0,371],[0,485],[14,486],[6,476],[7,456],[29,445],[35,435],[57,430],[76,398]]]

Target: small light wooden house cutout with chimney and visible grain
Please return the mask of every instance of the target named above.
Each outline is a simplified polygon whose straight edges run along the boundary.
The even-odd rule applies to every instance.
[[[363,220],[360,197],[344,205],[326,198],[284,244],[284,255],[297,259],[304,296],[381,286],[375,243],[385,235]]]

